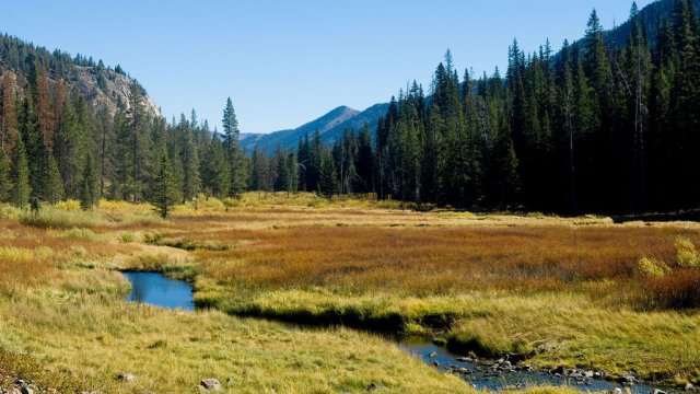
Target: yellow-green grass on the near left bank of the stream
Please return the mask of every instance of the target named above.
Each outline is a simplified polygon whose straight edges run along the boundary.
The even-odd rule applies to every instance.
[[[0,227],[16,234],[0,241],[0,372],[60,392],[195,392],[211,376],[235,393],[469,392],[372,335],[122,301],[128,282],[110,267],[182,271],[183,251]]]

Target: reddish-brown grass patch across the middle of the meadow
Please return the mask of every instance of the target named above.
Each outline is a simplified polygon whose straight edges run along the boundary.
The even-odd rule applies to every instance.
[[[191,219],[187,224],[198,225]],[[679,234],[698,239],[684,229],[626,227],[292,227],[172,236],[232,245],[196,252],[207,275],[226,286],[431,296],[583,291],[606,280],[639,290],[646,285],[635,277],[637,262],[673,259]]]

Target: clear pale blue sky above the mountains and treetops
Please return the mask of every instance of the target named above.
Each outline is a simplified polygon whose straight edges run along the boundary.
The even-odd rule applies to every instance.
[[[221,124],[231,97],[242,132],[295,128],[339,106],[387,102],[430,85],[451,49],[459,70],[504,68],[517,38],[583,36],[631,0],[22,0],[2,1],[0,32],[48,49],[117,63],[171,119],[192,108]],[[639,0],[640,8],[653,2]],[[462,74],[462,72],[460,72]]]

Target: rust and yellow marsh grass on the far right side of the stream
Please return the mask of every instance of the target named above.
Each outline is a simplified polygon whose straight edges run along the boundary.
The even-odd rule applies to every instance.
[[[200,306],[436,336],[458,351],[540,366],[700,379],[700,354],[686,347],[700,320],[676,312],[692,308],[691,276],[639,270],[645,256],[674,262],[679,236],[697,243],[692,223],[303,207],[228,215],[183,216],[187,230],[159,237],[232,245],[190,252]]]

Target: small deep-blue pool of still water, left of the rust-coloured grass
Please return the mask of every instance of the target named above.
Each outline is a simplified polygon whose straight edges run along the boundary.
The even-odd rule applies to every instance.
[[[127,301],[191,311],[192,287],[184,280],[171,279],[156,273],[124,273],[131,282]]]

